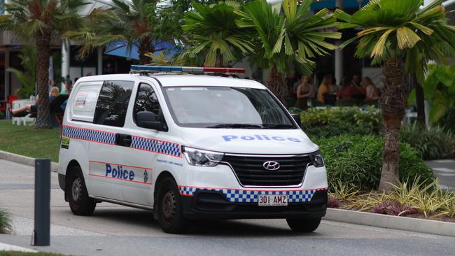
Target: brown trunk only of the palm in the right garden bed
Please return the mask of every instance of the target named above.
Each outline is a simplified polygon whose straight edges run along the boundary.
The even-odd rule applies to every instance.
[[[389,59],[382,67],[381,115],[384,121],[384,151],[379,190],[390,191],[398,183],[401,121],[405,116],[407,87],[400,59]]]

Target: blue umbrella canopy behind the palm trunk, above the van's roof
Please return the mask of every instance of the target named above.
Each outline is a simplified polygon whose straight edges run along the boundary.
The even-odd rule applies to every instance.
[[[176,49],[176,46],[173,43],[169,43],[167,41],[154,42],[152,45],[155,47],[155,55],[158,55],[162,51],[168,51],[170,56],[180,52],[180,50]],[[109,43],[109,45],[106,46],[104,54],[139,60],[138,50],[139,48],[137,43],[133,43],[132,49],[128,50],[127,43],[123,41],[116,41]]]

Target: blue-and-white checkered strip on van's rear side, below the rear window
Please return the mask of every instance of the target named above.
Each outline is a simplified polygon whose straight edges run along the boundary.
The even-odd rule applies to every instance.
[[[83,129],[64,125],[62,127],[62,136],[77,138],[84,141],[94,141],[99,143],[114,144],[116,143],[116,134],[97,131],[92,129]]]

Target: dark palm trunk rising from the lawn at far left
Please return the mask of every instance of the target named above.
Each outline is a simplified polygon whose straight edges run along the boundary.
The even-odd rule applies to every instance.
[[[38,31],[35,35],[36,42],[36,83],[38,87],[38,113],[36,128],[52,128],[49,112],[49,57],[50,57],[50,31]]]

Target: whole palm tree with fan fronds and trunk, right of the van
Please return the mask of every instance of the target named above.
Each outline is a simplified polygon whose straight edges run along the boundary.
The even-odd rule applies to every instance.
[[[382,64],[381,115],[384,120],[383,166],[379,190],[391,190],[398,181],[400,148],[398,134],[409,94],[406,72],[423,81],[430,59],[444,60],[444,52],[454,51],[455,27],[447,24],[441,1],[420,8],[423,0],[372,0],[353,15],[336,10],[339,27],[359,27],[353,41],[357,57],[369,56]],[[405,60],[405,66],[403,66]]]

